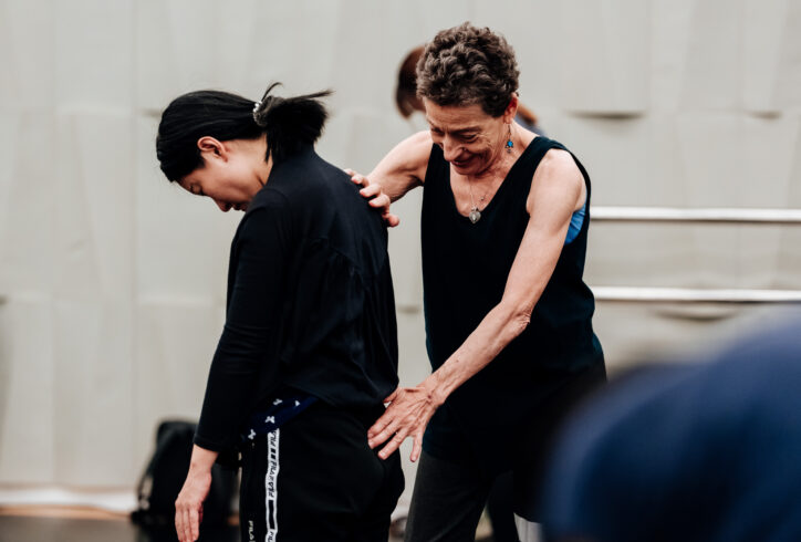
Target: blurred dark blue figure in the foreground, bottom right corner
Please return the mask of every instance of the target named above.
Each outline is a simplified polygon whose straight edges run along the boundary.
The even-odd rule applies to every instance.
[[[554,450],[556,541],[801,540],[801,319],[697,365],[642,369]]]

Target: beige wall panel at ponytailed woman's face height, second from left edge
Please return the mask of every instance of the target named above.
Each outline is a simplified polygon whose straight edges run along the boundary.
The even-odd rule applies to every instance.
[[[131,300],[134,282],[134,122],[129,115],[59,115],[55,183],[63,295]]]

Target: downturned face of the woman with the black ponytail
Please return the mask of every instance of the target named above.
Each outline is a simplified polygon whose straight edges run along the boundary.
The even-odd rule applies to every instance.
[[[233,139],[219,142],[214,137],[198,140],[204,165],[178,184],[197,196],[208,196],[221,211],[248,210],[253,196],[270,175],[271,161],[264,161],[267,142]]]

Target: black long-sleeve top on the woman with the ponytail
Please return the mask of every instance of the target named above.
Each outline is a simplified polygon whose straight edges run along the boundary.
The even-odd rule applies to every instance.
[[[231,244],[226,325],[195,442],[235,447],[280,389],[333,406],[397,386],[397,326],[378,212],[311,147],[273,167]]]

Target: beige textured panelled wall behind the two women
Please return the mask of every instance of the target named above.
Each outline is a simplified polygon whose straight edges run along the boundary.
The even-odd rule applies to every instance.
[[[595,206],[801,208],[799,0],[0,0],[1,484],[131,486],[156,420],[199,413],[239,217],[162,178],[159,110],[332,87],[319,150],[366,171],[422,126],[394,110],[399,60],[464,20],[516,46]],[[427,373],[419,196],[392,232],[407,383]],[[586,275],[801,289],[799,247],[792,227],[597,223]],[[600,303],[595,322],[621,366],[763,311]]]

